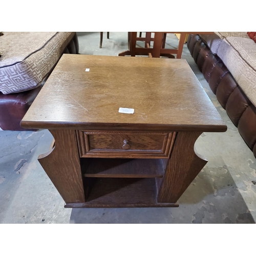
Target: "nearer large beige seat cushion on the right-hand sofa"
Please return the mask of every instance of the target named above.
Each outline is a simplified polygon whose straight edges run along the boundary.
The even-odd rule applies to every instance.
[[[218,50],[234,79],[256,106],[256,44],[250,38],[226,37]]]

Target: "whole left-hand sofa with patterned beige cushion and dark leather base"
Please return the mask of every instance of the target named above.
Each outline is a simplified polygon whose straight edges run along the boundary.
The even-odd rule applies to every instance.
[[[0,130],[20,121],[63,53],[78,54],[75,32],[3,32],[0,36]]]

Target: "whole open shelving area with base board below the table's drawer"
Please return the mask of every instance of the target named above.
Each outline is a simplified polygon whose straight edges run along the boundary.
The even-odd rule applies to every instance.
[[[178,207],[158,203],[157,195],[167,160],[80,158],[85,203],[66,208]]]

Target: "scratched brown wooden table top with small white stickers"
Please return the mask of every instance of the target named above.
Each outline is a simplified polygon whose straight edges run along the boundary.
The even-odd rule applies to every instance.
[[[132,108],[135,112],[122,114],[118,113],[119,108]],[[75,54],[63,54],[22,126],[226,131],[186,60]]]

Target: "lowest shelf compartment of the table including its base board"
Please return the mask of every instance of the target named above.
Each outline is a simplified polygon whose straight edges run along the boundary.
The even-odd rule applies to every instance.
[[[178,207],[178,203],[157,203],[158,178],[85,178],[86,203],[66,208]]]

